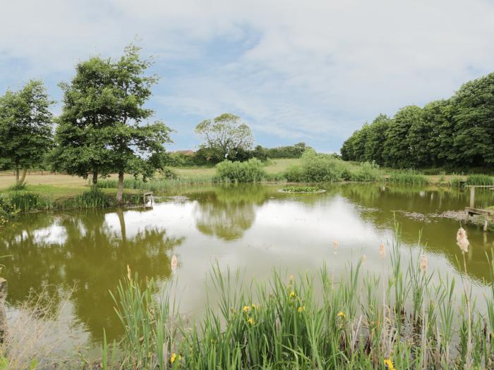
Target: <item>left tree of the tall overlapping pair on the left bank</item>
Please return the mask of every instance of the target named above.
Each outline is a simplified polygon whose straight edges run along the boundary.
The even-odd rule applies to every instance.
[[[98,174],[112,171],[110,149],[102,130],[112,125],[114,104],[112,61],[99,56],[78,63],[71,83],[61,83],[64,106],[57,122],[55,169],[88,178],[97,184]]]

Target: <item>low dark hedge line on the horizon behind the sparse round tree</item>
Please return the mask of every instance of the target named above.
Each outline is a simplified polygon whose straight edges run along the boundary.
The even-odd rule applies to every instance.
[[[253,149],[235,147],[229,150],[227,159],[230,161],[243,162],[253,158],[259,159],[260,161],[279,158],[300,158],[306,149],[310,149],[310,147],[308,147],[305,142],[275,148],[266,148],[261,145],[257,145]],[[225,156],[223,152],[217,150],[215,147],[201,146],[193,153],[170,153],[167,162],[169,166],[175,167],[202,166],[207,164],[218,164],[219,162],[224,161],[224,159]]]

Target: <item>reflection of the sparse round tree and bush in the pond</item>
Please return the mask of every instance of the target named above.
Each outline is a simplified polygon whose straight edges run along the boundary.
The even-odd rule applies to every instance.
[[[197,199],[196,226],[201,233],[224,240],[236,240],[251,228],[255,206],[269,197],[263,185],[230,185],[216,187]]]

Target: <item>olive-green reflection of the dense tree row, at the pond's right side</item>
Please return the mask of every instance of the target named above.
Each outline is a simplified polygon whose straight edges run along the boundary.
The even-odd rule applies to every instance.
[[[366,207],[360,212],[361,218],[371,221],[377,228],[392,229],[396,217],[401,226],[402,240],[406,244],[416,245],[418,235],[422,233],[421,244],[426,245],[427,252],[444,256],[455,269],[462,270],[462,266],[459,267],[457,263],[463,258],[456,244],[459,221],[430,215],[439,215],[448,210],[462,211],[469,202],[468,191],[350,185],[342,187],[342,195],[354,204]],[[492,192],[479,192],[476,204],[492,202],[492,199]],[[402,211],[416,212],[420,217]],[[486,252],[494,247],[493,235],[483,233],[480,227],[471,225],[467,227],[467,233],[471,243],[466,260],[469,275],[479,281],[490,281]]]

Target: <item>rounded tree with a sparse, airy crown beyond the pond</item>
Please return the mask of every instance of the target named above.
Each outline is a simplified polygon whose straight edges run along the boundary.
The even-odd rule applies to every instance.
[[[251,128],[231,113],[202,121],[195,126],[195,132],[203,137],[203,147],[210,155],[220,160],[227,158],[234,149],[248,150],[253,144]]]

